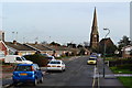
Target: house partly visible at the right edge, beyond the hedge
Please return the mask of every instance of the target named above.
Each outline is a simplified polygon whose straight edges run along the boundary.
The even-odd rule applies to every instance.
[[[130,58],[132,57],[132,45],[122,47],[122,57]]]

